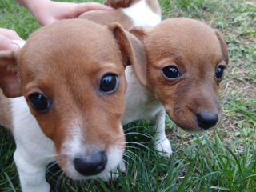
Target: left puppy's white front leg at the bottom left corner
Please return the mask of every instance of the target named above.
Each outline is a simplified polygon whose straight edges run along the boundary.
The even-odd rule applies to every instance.
[[[46,165],[32,159],[21,147],[14,152],[14,162],[18,169],[22,192],[50,192],[46,182]]]

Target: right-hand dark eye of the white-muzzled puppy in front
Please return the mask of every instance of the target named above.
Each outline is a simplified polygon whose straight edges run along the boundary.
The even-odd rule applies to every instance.
[[[118,89],[118,76],[116,74],[106,74],[103,76],[99,89],[104,94],[112,94]]]

